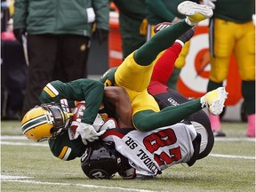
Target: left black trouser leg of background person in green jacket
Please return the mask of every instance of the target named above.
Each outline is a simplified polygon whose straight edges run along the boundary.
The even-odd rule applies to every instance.
[[[56,63],[57,38],[52,36],[28,36],[28,81],[21,116],[40,104],[38,99],[45,84],[52,81]]]

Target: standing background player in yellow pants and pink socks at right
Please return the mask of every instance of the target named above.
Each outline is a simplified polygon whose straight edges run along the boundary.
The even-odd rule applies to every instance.
[[[204,0],[212,6],[210,20],[211,73],[207,92],[222,86],[228,76],[228,65],[232,53],[236,56],[242,79],[242,95],[247,114],[247,136],[255,137],[255,27],[252,14],[253,0]],[[212,116],[212,131],[215,136],[225,136],[221,131],[220,116]]]

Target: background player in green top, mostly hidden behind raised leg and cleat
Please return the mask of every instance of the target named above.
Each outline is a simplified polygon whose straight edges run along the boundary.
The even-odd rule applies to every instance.
[[[155,33],[153,28],[156,24],[161,22],[172,22],[175,23],[181,19],[184,19],[185,16],[180,14],[177,11],[177,6],[184,2],[184,0],[145,0],[147,8],[147,19],[148,19],[148,32],[147,40],[154,36]],[[199,3],[199,0],[193,0],[193,2]],[[183,46],[182,51],[180,52],[179,58],[175,62],[175,68],[170,76],[167,85],[169,88],[177,90],[177,82],[180,76],[180,70],[185,65],[185,58],[188,54],[190,42],[188,41],[185,46]]]

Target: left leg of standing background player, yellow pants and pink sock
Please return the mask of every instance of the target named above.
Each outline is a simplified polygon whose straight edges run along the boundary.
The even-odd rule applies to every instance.
[[[207,92],[222,86],[223,81],[228,76],[228,66],[230,55],[233,51],[235,39],[230,34],[234,29],[226,25],[223,20],[210,20],[210,53],[211,53],[211,72]],[[221,130],[220,116],[209,115],[212,131],[215,136],[225,136]]]

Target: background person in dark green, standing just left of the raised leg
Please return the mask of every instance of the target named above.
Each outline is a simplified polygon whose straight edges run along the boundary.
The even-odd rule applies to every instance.
[[[145,0],[113,0],[119,11],[123,58],[146,42]]]

